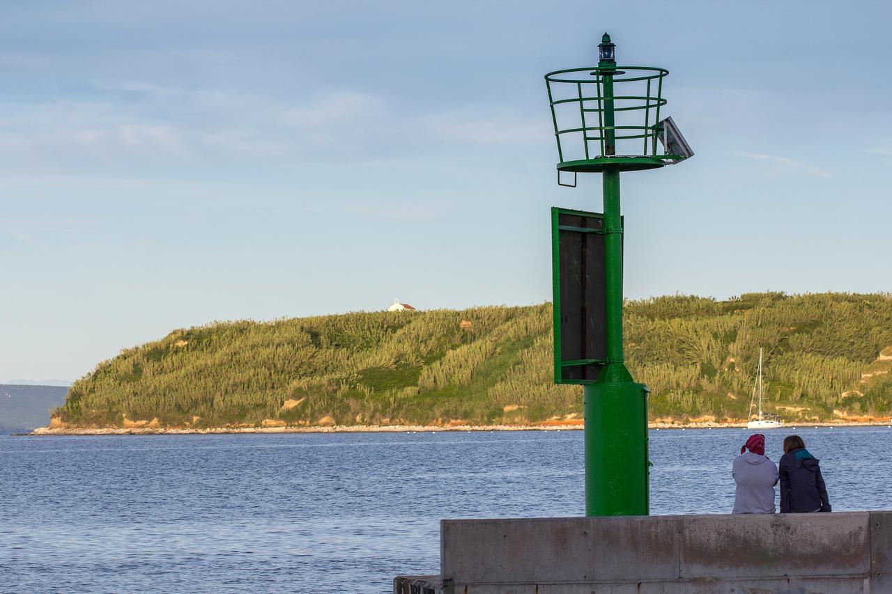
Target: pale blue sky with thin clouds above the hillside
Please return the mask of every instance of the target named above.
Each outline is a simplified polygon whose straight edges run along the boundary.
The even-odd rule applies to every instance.
[[[0,381],[214,320],[550,300],[542,76],[662,66],[625,295],[892,291],[885,2],[5,3]]]

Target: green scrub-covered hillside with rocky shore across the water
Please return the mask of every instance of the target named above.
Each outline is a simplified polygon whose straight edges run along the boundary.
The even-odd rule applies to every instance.
[[[650,417],[747,415],[759,347],[788,420],[888,417],[888,294],[629,301],[627,363]],[[55,415],[69,426],[500,424],[581,417],[551,383],[551,306],[351,313],[175,330],[103,361]]]

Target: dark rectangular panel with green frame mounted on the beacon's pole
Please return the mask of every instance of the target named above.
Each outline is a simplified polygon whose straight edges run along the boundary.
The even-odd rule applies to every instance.
[[[556,384],[595,384],[607,359],[604,218],[551,209]]]

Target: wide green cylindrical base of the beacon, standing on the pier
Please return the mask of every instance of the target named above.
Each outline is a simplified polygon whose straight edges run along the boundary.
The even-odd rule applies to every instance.
[[[647,516],[648,408],[644,384],[583,387],[585,515]]]

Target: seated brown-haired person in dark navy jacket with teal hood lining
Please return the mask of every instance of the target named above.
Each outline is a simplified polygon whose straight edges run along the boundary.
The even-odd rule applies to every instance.
[[[805,450],[805,441],[789,435],[783,441],[784,454],[780,458],[780,513],[801,514],[830,511],[827,487],[821,475],[818,458]]]

